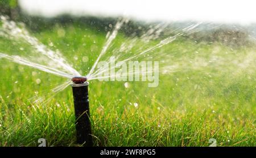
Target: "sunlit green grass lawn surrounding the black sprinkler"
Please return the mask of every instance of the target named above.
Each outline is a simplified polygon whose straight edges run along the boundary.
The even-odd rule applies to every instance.
[[[105,33],[76,24],[32,35],[46,45],[53,42],[50,48],[59,49],[82,74],[89,71],[105,41]],[[116,45],[126,39],[117,38]],[[19,47],[0,39],[0,52],[17,54]],[[156,88],[148,88],[146,82],[129,82],[129,88],[125,82],[90,82],[94,146],[209,146],[210,138],[217,146],[256,145],[254,47],[232,49],[182,37],[159,52],[168,52],[168,64],[177,69],[160,74]],[[164,55],[154,57],[166,59]],[[85,56],[88,62],[82,61]],[[215,57],[218,62],[210,63]],[[46,138],[50,146],[77,146],[71,87],[46,105],[27,100],[35,93],[47,95],[65,79],[6,59],[0,63],[0,146],[38,146],[39,138]]]

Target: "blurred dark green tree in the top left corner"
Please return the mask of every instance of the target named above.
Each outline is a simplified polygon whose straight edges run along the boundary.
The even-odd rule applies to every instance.
[[[0,12],[13,20],[18,19],[20,12],[18,0],[0,0]]]

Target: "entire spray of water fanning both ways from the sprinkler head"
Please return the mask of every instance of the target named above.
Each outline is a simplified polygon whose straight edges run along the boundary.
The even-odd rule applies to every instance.
[[[69,79],[67,82],[57,85],[53,87],[51,91],[48,93],[49,96],[38,96],[35,95],[31,97],[30,101],[34,104],[46,104],[51,100],[57,93],[63,91],[65,88],[71,84],[71,78],[73,76],[81,76],[80,73],[75,70],[71,64],[64,58],[64,56],[59,51],[53,51],[47,48],[46,45],[42,44],[38,39],[31,36],[30,33],[26,30],[24,25],[19,25],[11,20],[8,20],[6,16],[0,17],[2,22],[2,27],[0,28],[0,36],[5,37],[7,39],[11,39],[14,41],[24,41],[33,48],[32,52],[27,54],[19,54],[16,52],[16,55],[9,55],[7,53],[1,52],[0,58],[8,59],[11,62],[18,63],[20,65],[26,65],[29,67],[33,67],[34,69],[38,69],[40,71],[48,72],[53,75],[62,76],[64,78]],[[113,30],[108,32],[106,35],[106,41],[104,46],[102,46],[102,50],[98,55],[96,61],[94,62],[92,68],[89,73],[85,76],[88,77],[88,80],[94,79],[104,79],[112,77],[109,76],[101,76],[104,72],[108,71],[106,67],[97,68],[97,65],[100,61],[105,60],[109,63],[109,58],[114,56],[117,59],[118,63],[114,67],[110,67],[110,69],[117,68],[117,65],[122,65],[127,61],[131,60],[161,60],[162,58],[170,57],[170,52],[160,51],[165,45],[170,44],[175,41],[177,38],[181,36],[187,36],[191,33],[195,33],[200,31],[201,23],[193,23],[184,27],[178,27],[176,29],[172,29],[164,39],[160,40],[158,43],[153,43],[152,41],[157,41],[160,35],[168,28],[167,23],[161,23],[150,27],[146,32],[144,32],[141,36],[131,36],[127,37],[119,47],[113,46],[113,42],[115,41],[115,37],[117,37],[119,29],[122,25],[127,24],[129,20],[126,18],[119,19],[117,23],[114,25]],[[135,49],[135,50],[134,50]],[[32,54],[32,55],[31,55]],[[42,58],[42,61],[38,63],[38,55]],[[164,71],[160,71],[163,73],[177,71],[180,66],[175,65],[174,63],[170,63],[167,61],[166,65],[163,67]],[[151,70],[144,70],[139,72],[139,75],[145,76]],[[133,70],[128,70],[126,74],[122,74],[122,76],[115,77],[124,77],[128,75],[136,75],[138,72]]]

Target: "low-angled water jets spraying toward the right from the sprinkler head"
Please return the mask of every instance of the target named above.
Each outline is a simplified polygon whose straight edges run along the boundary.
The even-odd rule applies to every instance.
[[[112,52],[112,55],[115,55],[115,59],[119,59],[118,63],[114,66],[111,67],[101,67],[100,69],[97,69],[96,71],[93,71],[95,66],[93,67],[93,69],[91,69],[88,79],[89,80],[94,80],[94,79],[105,79],[105,78],[111,78],[113,77],[112,75],[109,76],[104,76],[102,77],[101,75],[104,74],[106,71],[109,71],[109,69],[117,69],[117,67],[119,65],[122,65],[123,63],[127,62],[127,61],[132,61],[134,59],[138,59],[138,58],[142,58],[142,59],[147,59],[148,57],[152,59],[156,59],[157,56],[159,55],[168,55],[170,54],[170,52],[157,52],[156,50],[158,50],[159,48],[162,48],[162,46],[170,44],[171,42],[175,41],[178,37],[180,36],[185,36],[185,35],[190,35],[191,33],[195,33],[200,31],[199,28],[197,28],[200,25],[200,23],[196,23],[196,24],[191,24],[188,25],[187,27],[181,27],[181,28],[177,28],[174,31],[172,31],[171,33],[174,33],[174,35],[172,36],[168,36],[165,39],[161,40],[158,44],[152,45],[152,46],[147,46],[146,48],[142,48],[142,49],[138,49],[137,52],[133,52],[130,55],[129,51],[137,44],[137,42],[139,41],[144,41],[144,42],[149,42],[151,40],[155,40],[158,39],[159,34],[164,31],[164,28],[167,27],[167,24],[160,24],[160,25],[156,25],[154,28],[149,29],[146,33],[144,33],[141,37],[136,38],[133,37],[133,39],[129,39],[132,42],[128,42],[125,41],[123,42],[123,44],[121,45],[121,47],[117,50],[114,50],[114,52]],[[106,50],[105,50],[106,52]],[[156,57],[156,58],[155,58]],[[97,63],[99,61],[100,58],[97,58]],[[159,58],[158,58],[159,59]],[[107,64],[109,65],[110,63],[110,59],[106,59]],[[168,63],[168,65],[170,65],[170,63]],[[146,76],[151,70],[147,70],[147,71],[142,71],[139,75],[141,75],[142,77]],[[161,71],[160,71],[161,72]],[[128,69],[128,71],[125,74],[122,74],[122,76],[115,76],[116,78],[126,78],[129,75],[135,75],[135,72],[133,70]]]

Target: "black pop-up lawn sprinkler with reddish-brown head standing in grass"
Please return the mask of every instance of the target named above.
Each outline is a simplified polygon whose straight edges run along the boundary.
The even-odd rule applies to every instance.
[[[88,85],[86,77],[73,77],[72,90],[76,116],[76,138],[78,144],[92,146],[92,129],[90,126],[90,110]]]

